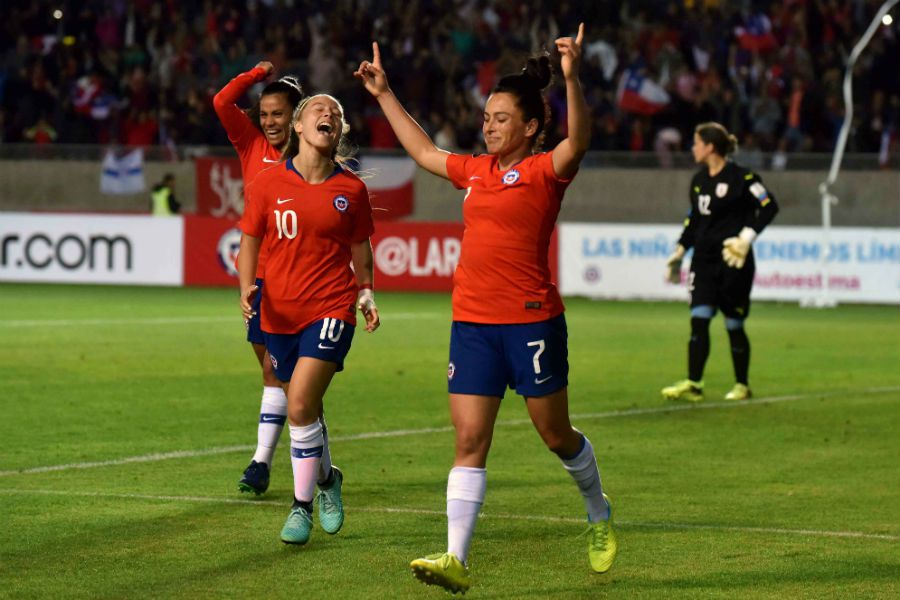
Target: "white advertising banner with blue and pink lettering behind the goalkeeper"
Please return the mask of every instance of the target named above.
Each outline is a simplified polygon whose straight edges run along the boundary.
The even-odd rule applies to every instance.
[[[559,226],[559,284],[564,295],[688,300],[685,285],[665,280],[677,225]],[[818,227],[767,228],[753,244],[757,300],[809,300],[822,293],[839,302],[900,304],[900,229],[834,228],[825,245]]]

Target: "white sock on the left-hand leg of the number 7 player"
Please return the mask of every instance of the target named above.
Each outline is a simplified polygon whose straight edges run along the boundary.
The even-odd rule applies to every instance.
[[[453,467],[447,477],[447,552],[466,562],[478,512],[484,503],[487,470]]]

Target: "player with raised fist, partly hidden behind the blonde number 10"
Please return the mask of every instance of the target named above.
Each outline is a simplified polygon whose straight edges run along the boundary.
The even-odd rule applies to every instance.
[[[259,102],[249,111],[241,109],[237,105],[238,100],[252,86],[265,81],[272,73],[272,69],[272,63],[261,62],[253,69],[232,79],[213,98],[216,114],[219,115],[228,133],[228,139],[240,157],[241,174],[245,184],[253,181],[264,169],[281,161],[281,153],[287,146],[290,134],[291,116],[303,99],[300,83],[295,77],[287,76],[266,85],[260,94]],[[256,285],[260,290],[263,289],[266,255],[267,248],[264,244],[256,272]],[[256,296],[256,310],[259,310],[261,296],[261,293]],[[257,425],[256,452],[238,482],[238,489],[259,495],[269,487],[272,459],[287,415],[287,397],[281,389],[281,383],[275,377],[272,363],[266,356],[259,319],[247,323],[247,341],[252,344],[262,367],[263,393]],[[320,474],[323,480],[326,475],[324,472]]]

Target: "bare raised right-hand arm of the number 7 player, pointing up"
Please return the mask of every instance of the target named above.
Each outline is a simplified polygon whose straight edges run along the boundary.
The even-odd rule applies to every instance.
[[[568,108],[569,136],[553,150],[553,170],[561,179],[570,179],[578,171],[578,165],[591,142],[591,119],[578,68],[581,64],[581,44],[584,39],[584,23],[578,25],[578,36],[556,40],[556,49],[562,56],[561,66],[566,80],[566,104]]]

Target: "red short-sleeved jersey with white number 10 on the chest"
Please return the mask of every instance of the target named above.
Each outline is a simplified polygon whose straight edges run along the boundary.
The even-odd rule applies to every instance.
[[[297,333],[326,317],[355,325],[350,246],[374,231],[365,184],[340,168],[310,184],[286,161],[260,173],[245,196],[241,230],[269,244],[263,331]]]

